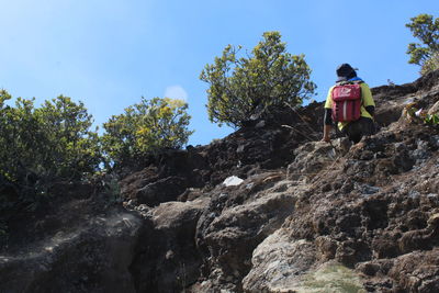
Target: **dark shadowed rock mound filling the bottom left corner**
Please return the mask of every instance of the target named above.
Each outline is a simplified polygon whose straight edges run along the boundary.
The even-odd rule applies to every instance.
[[[2,253],[1,292],[135,292],[128,266],[142,218],[122,209],[78,216],[75,226],[66,223],[43,241]]]

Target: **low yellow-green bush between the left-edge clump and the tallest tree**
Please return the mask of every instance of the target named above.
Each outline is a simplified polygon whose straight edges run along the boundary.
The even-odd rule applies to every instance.
[[[142,99],[103,124],[102,147],[108,160],[125,165],[164,148],[181,148],[193,131],[188,129],[188,104],[169,98]]]

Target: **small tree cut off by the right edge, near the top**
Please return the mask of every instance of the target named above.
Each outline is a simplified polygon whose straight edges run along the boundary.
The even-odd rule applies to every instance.
[[[420,72],[425,75],[439,68],[439,19],[434,19],[430,14],[419,14],[410,20],[406,26],[421,44],[408,44],[408,63],[421,66]]]

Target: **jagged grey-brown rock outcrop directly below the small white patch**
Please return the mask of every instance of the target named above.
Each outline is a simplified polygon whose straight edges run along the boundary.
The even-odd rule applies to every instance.
[[[193,292],[212,292],[222,284],[226,284],[224,290],[241,291],[240,280],[250,269],[252,250],[294,210],[289,182],[273,185],[281,178],[284,173],[263,173],[238,188],[214,192],[196,230],[198,246],[207,260],[203,266],[207,281]]]

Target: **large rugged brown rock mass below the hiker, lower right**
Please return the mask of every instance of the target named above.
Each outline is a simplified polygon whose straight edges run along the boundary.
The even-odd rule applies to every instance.
[[[244,289],[301,292],[336,261],[353,269],[367,291],[437,292],[438,138],[420,125],[384,131],[327,164],[303,187],[282,228],[255,250]],[[420,251],[428,264],[410,257]]]

